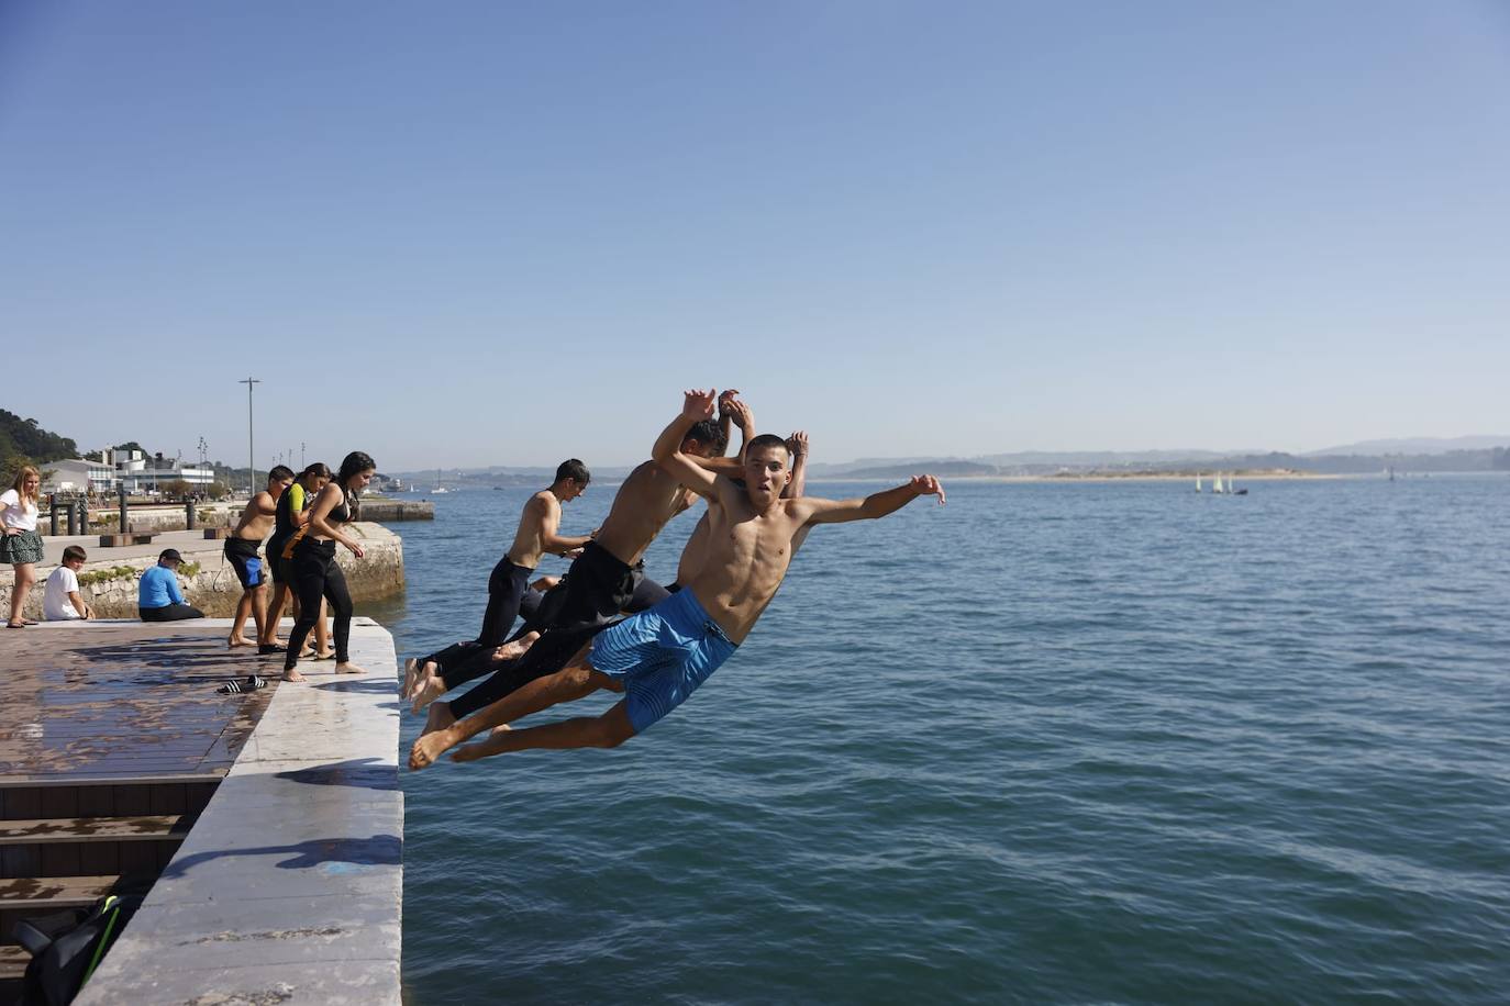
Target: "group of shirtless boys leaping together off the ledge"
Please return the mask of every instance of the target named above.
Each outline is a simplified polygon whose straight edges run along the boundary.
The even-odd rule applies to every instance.
[[[559,532],[562,504],[587,489],[581,462],[562,463],[550,489],[530,498],[513,544],[489,576],[479,636],[405,664],[403,695],[414,712],[429,704],[411,769],[485,730],[488,738],[451,759],[624,744],[686,701],[744,641],[814,525],[885,517],[918,496],[944,502],[932,475],[862,499],[806,496],[806,436],[757,436],[737,395],[686,392],[651,460],[630,474],[590,535]],[[725,457],[732,425],[743,443]],[[696,496],[707,511],[683,551],[676,581],[660,587],[643,575],[645,551]],[[530,584],[547,552],[574,557],[571,569],[559,582]],[[507,636],[519,615],[524,626]],[[439,700],[489,671],[467,694]],[[599,689],[622,694],[599,716],[510,725]]]

